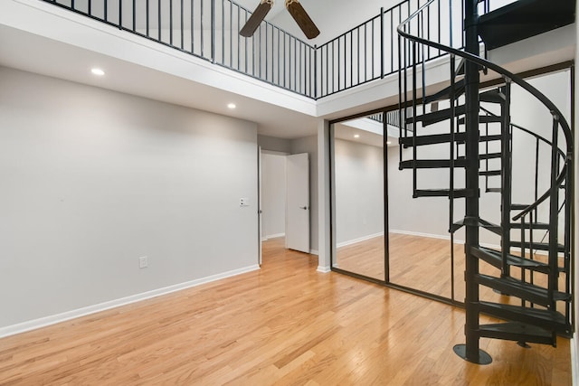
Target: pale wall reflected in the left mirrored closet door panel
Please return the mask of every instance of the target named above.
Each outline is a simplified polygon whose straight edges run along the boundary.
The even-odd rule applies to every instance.
[[[384,155],[381,147],[336,139],[337,245],[384,232]]]

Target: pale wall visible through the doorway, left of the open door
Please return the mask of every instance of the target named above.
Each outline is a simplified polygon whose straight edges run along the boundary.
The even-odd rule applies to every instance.
[[[286,233],[286,156],[261,154],[261,239]]]

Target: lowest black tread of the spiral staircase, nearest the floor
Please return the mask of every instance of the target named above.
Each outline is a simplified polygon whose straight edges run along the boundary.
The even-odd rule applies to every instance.
[[[554,334],[536,325],[520,322],[479,325],[479,336],[533,344],[555,344]]]

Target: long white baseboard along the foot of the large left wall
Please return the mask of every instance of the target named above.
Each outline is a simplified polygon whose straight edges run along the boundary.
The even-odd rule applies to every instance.
[[[110,300],[108,302],[100,303],[94,306],[78,308],[58,315],[45,316],[39,319],[19,323],[17,325],[8,325],[5,327],[0,327],[0,338],[25,333],[26,331],[35,330],[38,328],[46,327],[48,325],[56,325],[57,323],[62,323],[77,317],[95,314],[119,306],[126,306],[128,304],[136,303],[141,300],[150,299],[151,297],[160,297],[162,295],[170,294],[172,292],[180,291],[190,287],[200,286],[202,284],[210,283],[212,281],[220,280],[222,278],[231,278],[233,276],[241,275],[242,273],[251,272],[257,269],[260,269],[260,266],[257,264],[250,267],[233,269],[231,271],[208,276],[206,278],[197,278],[195,280],[187,281],[181,284],[176,284],[174,286],[158,288],[152,291],[143,292],[141,294],[133,295],[130,297],[121,297],[116,300]]]

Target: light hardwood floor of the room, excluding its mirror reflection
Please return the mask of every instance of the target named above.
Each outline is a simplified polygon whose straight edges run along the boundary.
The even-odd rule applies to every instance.
[[[465,362],[461,309],[317,266],[271,240],[259,271],[2,339],[0,384],[571,384],[565,339]]]

